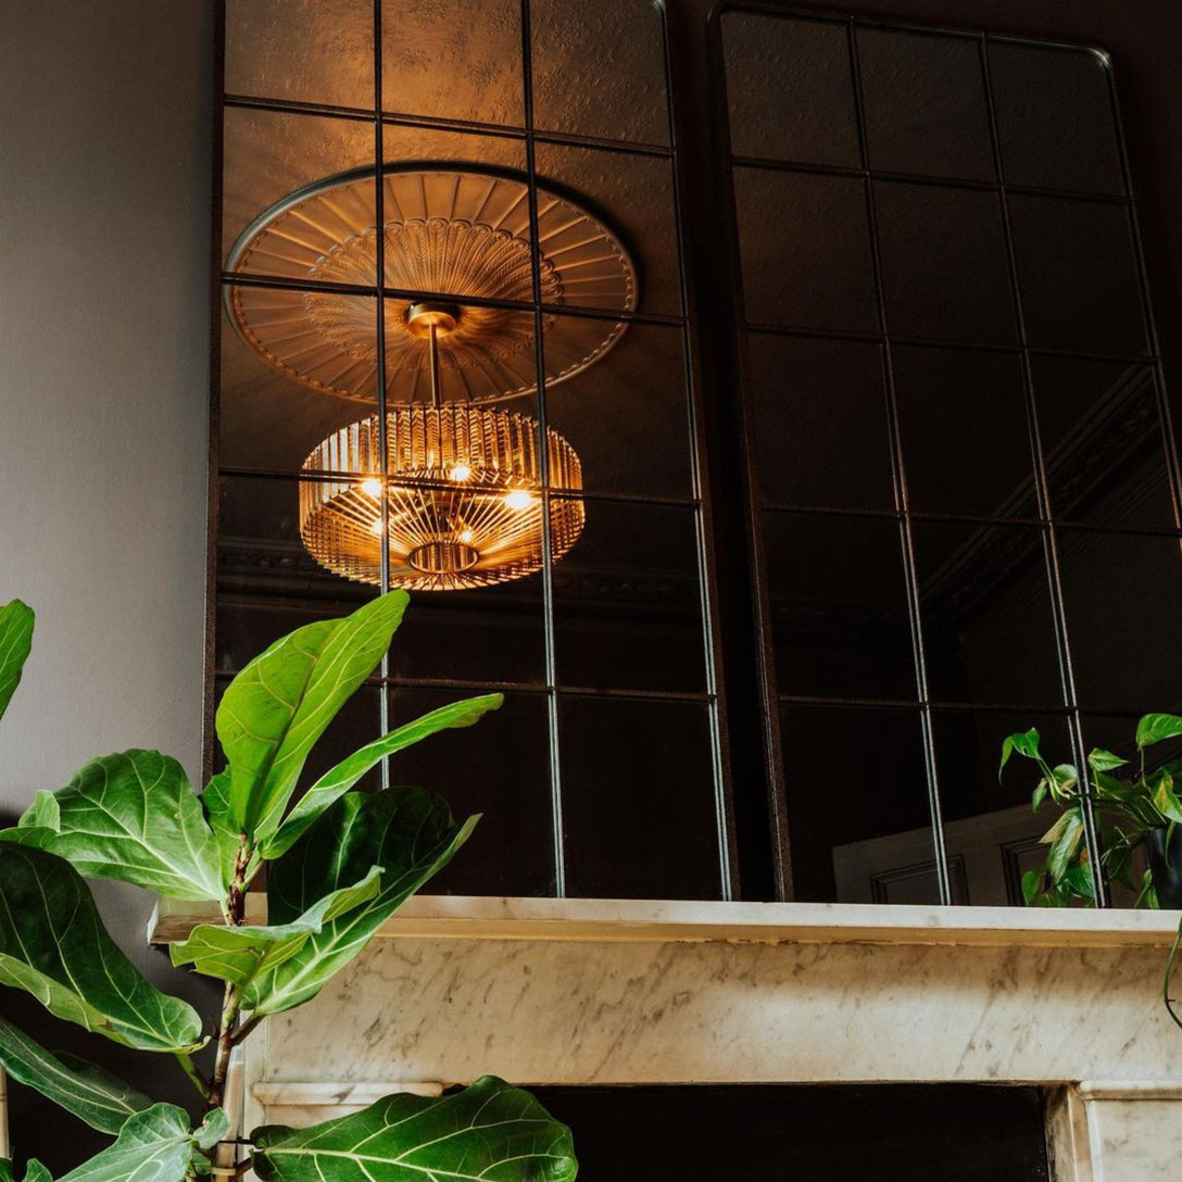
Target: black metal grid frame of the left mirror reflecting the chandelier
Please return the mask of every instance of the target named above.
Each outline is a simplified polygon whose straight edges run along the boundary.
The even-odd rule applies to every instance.
[[[552,561],[550,551],[550,535],[548,531],[543,532],[543,543],[545,559],[541,570],[541,578],[544,584],[544,625],[546,632],[546,650],[547,650],[547,676],[545,682],[528,684],[528,683],[491,683],[480,681],[463,681],[455,678],[397,678],[389,675],[389,658],[384,657],[382,662],[381,670],[378,675],[370,678],[370,683],[387,687],[418,687],[418,688],[448,688],[448,689],[467,689],[467,690],[482,690],[482,689],[505,689],[513,693],[537,693],[544,695],[548,700],[548,717],[550,717],[550,755],[551,755],[551,784],[552,784],[552,808],[553,808],[553,838],[554,838],[554,862],[556,862],[556,886],[557,894],[559,896],[565,894],[564,881],[564,851],[563,843],[565,840],[564,826],[563,826],[563,799],[561,799],[561,767],[560,756],[558,751],[558,701],[561,697],[604,697],[604,699],[623,699],[623,700],[636,700],[636,701],[654,701],[654,702],[683,702],[686,704],[706,706],[709,715],[710,723],[710,740],[714,751],[714,769],[713,775],[715,780],[715,827],[717,830],[717,846],[719,846],[719,895],[720,897],[728,898],[732,897],[736,869],[734,865],[733,855],[733,843],[729,833],[732,825],[730,816],[730,800],[729,800],[729,782],[727,780],[727,765],[726,765],[726,732],[721,721],[721,710],[719,708],[720,691],[716,684],[715,667],[719,660],[719,639],[715,635],[715,629],[713,626],[713,621],[716,615],[716,606],[714,599],[714,585],[713,577],[710,573],[710,563],[713,545],[710,540],[710,522],[709,515],[706,511],[706,506],[702,500],[702,489],[704,487],[704,476],[702,466],[704,463],[704,453],[702,450],[702,436],[700,434],[700,408],[699,408],[699,368],[696,358],[696,349],[694,348],[694,340],[691,338],[694,327],[694,317],[691,313],[687,313],[689,307],[689,293],[687,290],[687,278],[684,273],[684,251],[682,247],[682,234],[681,234],[681,209],[677,199],[677,184],[678,184],[678,160],[675,148],[675,141],[673,136],[674,128],[674,113],[671,109],[670,97],[671,97],[671,60],[669,54],[668,44],[668,31],[665,27],[664,12],[661,9],[661,37],[662,37],[662,64],[664,70],[664,89],[667,96],[667,108],[665,115],[670,128],[670,143],[668,145],[648,144],[636,141],[617,141],[610,138],[603,138],[598,136],[587,136],[573,132],[560,132],[560,131],[544,131],[534,128],[533,119],[533,93],[532,93],[532,57],[533,57],[533,45],[531,35],[530,25],[530,4],[528,0],[521,0],[521,38],[522,38],[522,96],[525,100],[525,122],[522,126],[515,125],[501,125],[501,124],[486,124],[465,119],[449,119],[449,118],[435,118],[429,116],[416,116],[404,112],[387,111],[383,109],[383,96],[382,96],[382,58],[383,58],[383,45],[382,45],[382,0],[374,0],[374,95],[375,105],[372,109],[368,108],[345,108],[345,106],[333,106],[331,104],[319,104],[319,103],[305,103],[298,100],[284,100],[284,99],[268,99],[262,97],[245,96],[245,95],[227,95],[223,92],[223,87],[219,85],[217,95],[215,97],[215,137],[220,144],[220,129],[225,119],[225,112],[228,109],[255,109],[266,110],[275,113],[290,113],[297,116],[319,116],[336,119],[346,119],[358,123],[372,123],[374,125],[374,137],[375,137],[375,149],[374,149],[374,175],[375,178],[383,175],[385,171],[385,162],[383,157],[384,151],[384,131],[387,128],[391,126],[411,126],[426,131],[452,131],[461,132],[466,135],[480,135],[494,138],[509,138],[518,141],[522,144],[526,155],[526,170],[525,175],[521,177],[527,187],[528,201],[530,201],[530,215],[531,215],[531,267],[533,278],[533,298],[528,301],[512,301],[512,300],[488,300],[481,299],[479,297],[468,297],[466,294],[457,293],[435,293],[422,290],[402,290],[402,288],[390,288],[377,281],[376,277],[384,277],[383,266],[383,254],[384,243],[381,241],[381,235],[378,236],[378,258],[376,260],[375,272],[376,281],[374,286],[366,285],[348,285],[348,284],[332,284],[332,282],[319,282],[319,281],[305,281],[296,280],[292,281],[286,277],[272,277],[266,274],[239,274],[235,272],[228,272],[223,269],[221,261],[221,233],[220,233],[220,210],[221,210],[221,183],[222,183],[222,164],[221,164],[221,152],[220,147],[215,149],[214,154],[214,174],[215,174],[215,191],[214,191],[214,215],[215,215],[215,234],[213,239],[213,307],[214,307],[214,319],[213,319],[213,332],[212,336],[216,342],[219,336],[219,324],[220,324],[220,304],[221,304],[221,290],[229,287],[229,285],[239,286],[252,286],[252,287],[272,287],[272,288],[296,288],[300,291],[324,291],[332,292],[337,294],[349,294],[349,296],[362,296],[375,299],[375,318],[376,318],[376,336],[379,350],[378,359],[378,371],[387,372],[387,366],[384,364],[384,331],[383,331],[383,316],[384,305],[387,299],[396,300],[423,300],[423,299],[442,299],[448,303],[461,303],[470,304],[472,306],[483,306],[483,307],[495,307],[505,309],[509,311],[524,311],[531,312],[534,317],[534,351],[535,351],[535,372],[538,375],[537,390],[533,391],[530,397],[534,400],[534,405],[531,408],[539,420],[540,430],[544,433],[546,429],[546,379],[545,379],[545,366],[544,366],[544,335],[541,333],[541,322],[547,314],[556,316],[570,316],[570,317],[583,317],[586,319],[598,319],[604,322],[625,322],[636,324],[652,324],[658,326],[677,327],[682,333],[681,349],[684,357],[684,397],[687,403],[687,415],[688,415],[688,428],[690,434],[690,469],[693,474],[693,491],[694,495],[690,498],[658,498],[658,496],[637,496],[628,493],[615,494],[615,493],[586,493],[586,494],[572,494],[579,499],[586,501],[603,501],[603,502],[623,502],[634,504],[637,506],[675,506],[678,508],[688,508],[693,512],[694,524],[695,524],[695,537],[697,539],[697,553],[696,553],[696,565],[697,565],[697,580],[699,580],[699,606],[701,616],[701,632],[702,632],[702,648],[703,655],[706,657],[707,667],[707,682],[706,690],[703,693],[671,693],[662,690],[644,690],[644,689],[615,689],[604,687],[579,687],[579,686],[565,686],[561,684],[556,670],[554,664],[554,611],[553,611],[553,586],[552,586]],[[219,40],[217,40],[217,63],[219,63],[219,83],[223,77],[223,61],[225,61],[225,28],[226,28],[226,4],[225,0],[219,5]],[[537,248],[537,197],[539,188],[539,176],[534,163],[534,145],[535,144],[553,144],[560,147],[574,147],[574,148],[586,148],[593,149],[596,151],[603,151],[604,154],[618,154],[621,156],[647,156],[667,160],[671,164],[671,194],[673,204],[671,216],[675,222],[675,254],[678,265],[678,284],[677,290],[680,293],[680,314],[668,314],[668,313],[645,313],[638,311],[612,311],[610,309],[595,309],[595,307],[570,307],[566,305],[546,305],[540,299],[540,262]],[[455,161],[448,162],[448,167],[456,168],[461,167]],[[481,169],[487,169],[487,165],[473,165],[480,167]],[[362,173],[368,173],[368,168],[361,170]],[[504,171],[504,170],[502,170]],[[546,188],[553,188],[554,182],[548,177],[541,178]],[[376,187],[376,200],[377,200],[377,220],[381,223],[383,219],[382,203],[384,199],[383,187],[377,184]],[[578,200],[580,204],[592,208],[585,197],[579,196]],[[592,209],[596,215],[598,210]],[[611,225],[610,217],[608,223]],[[212,383],[214,387],[214,400],[216,402],[216,390],[219,385],[219,374],[217,374],[217,355],[213,353],[213,374]],[[385,429],[385,413],[387,413],[387,394],[385,394],[385,382],[378,382],[378,400],[376,405],[376,414],[379,416],[381,430],[384,434]],[[213,418],[210,420],[210,502],[215,506],[216,501],[216,489],[219,487],[219,476],[230,476],[230,478],[259,478],[259,479],[286,479],[290,480],[296,473],[274,472],[269,469],[242,469],[233,467],[220,467],[217,463],[217,424]],[[383,476],[387,476],[385,472],[385,448],[381,446],[382,452],[382,465],[383,465]],[[547,511],[548,501],[553,496],[558,499],[561,494],[558,491],[552,491],[550,488],[548,479],[545,479],[545,469],[547,467],[548,456],[546,455],[546,449],[540,450],[543,457],[543,511],[544,514]],[[299,473],[299,476],[305,476],[307,474]],[[312,479],[333,479],[331,474],[327,473],[316,473],[312,474]],[[383,481],[384,485],[388,481]],[[416,487],[424,487],[421,483],[416,483]],[[389,514],[389,492],[388,488],[383,489],[382,494],[383,502],[383,518]],[[215,612],[213,606],[219,602],[216,590],[217,590],[217,566],[216,566],[216,539],[217,539],[217,525],[216,514],[212,508],[210,522],[209,522],[209,563],[208,563],[208,574],[209,574],[209,587],[208,587],[208,603],[210,604],[209,611],[209,623],[207,624],[207,706],[206,706],[206,755],[207,762],[212,767],[213,764],[213,748],[215,743],[214,729],[213,729],[213,715],[214,706],[216,701],[217,688],[223,684],[232,674],[227,670],[215,669],[215,636],[214,636],[214,619]],[[384,547],[383,547],[384,550]],[[382,586],[381,590],[384,591],[389,586],[389,556],[383,554],[383,570],[382,570]],[[234,592],[226,589],[228,595],[225,600],[233,602]],[[382,702],[382,726],[387,726],[388,715],[384,713],[388,710],[388,695],[381,695]],[[383,775],[385,769],[383,768]],[[383,781],[384,782],[384,781]]]

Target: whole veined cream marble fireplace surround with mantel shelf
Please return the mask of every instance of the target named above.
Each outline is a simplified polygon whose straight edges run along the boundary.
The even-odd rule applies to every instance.
[[[252,896],[261,920],[261,897]],[[162,903],[151,939],[194,904]],[[247,1129],[494,1072],[530,1084],[1039,1084],[1058,1182],[1182,1176],[1177,915],[413,900],[248,1044]]]

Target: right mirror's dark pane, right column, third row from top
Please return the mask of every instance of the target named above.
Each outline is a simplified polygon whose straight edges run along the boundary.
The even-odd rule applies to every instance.
[[[1154,371],[1123,362],[1035,357],[1033,374],[1052,514],[1173,528]]]

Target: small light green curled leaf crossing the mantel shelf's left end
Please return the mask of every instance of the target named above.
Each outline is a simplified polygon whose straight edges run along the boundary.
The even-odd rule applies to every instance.
[[[183,943],[169,946],[173,963],[177,967],[191,965],[206,976],[246,988],[261,973],[294,956],[309,936],[320,931],[325,923],[372,900],[381,878],[381,868],[371,866],[361,882],[332,891],[291,923],[238,928],[201,923]]]

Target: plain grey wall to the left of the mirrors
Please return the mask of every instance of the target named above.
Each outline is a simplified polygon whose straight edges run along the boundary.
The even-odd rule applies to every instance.
[[[200,772],[213,7],[4,4],[0,602],[38,612],[0,726],[6,813],[125,747]],[[177,976],[144,948],[151,901],[99,894],[136,960]],[[180,1078],[13,991],[0,1012],[147,1089]],[[53,1167],[85,1152],[82,1126],[25,1089],[12,1131]]]

